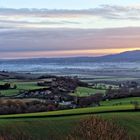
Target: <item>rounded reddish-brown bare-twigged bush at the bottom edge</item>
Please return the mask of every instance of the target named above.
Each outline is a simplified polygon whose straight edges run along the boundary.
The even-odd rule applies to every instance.
[[[82,120],[67,140],[130,140],[126,131],[100,117]]]

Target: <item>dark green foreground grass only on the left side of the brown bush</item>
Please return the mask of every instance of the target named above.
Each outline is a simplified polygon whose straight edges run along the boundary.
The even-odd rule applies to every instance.
[[[18,130],[21,130],[32,135],[34,140],[60,140],[70,133],[79,119],[84,117],[85,116],[71,116],[0,120],[0,129],[3,130],[11,126],[11,133],[16,134]]]

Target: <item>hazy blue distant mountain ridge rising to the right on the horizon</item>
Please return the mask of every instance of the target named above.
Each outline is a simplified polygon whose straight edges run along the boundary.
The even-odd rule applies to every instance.
[[[0,60],[0,63],[78,63],[78,62],[140,62],[140,50],[126,51],[119,54],[99,57],[67,57],[67,58],[29,58]]]

